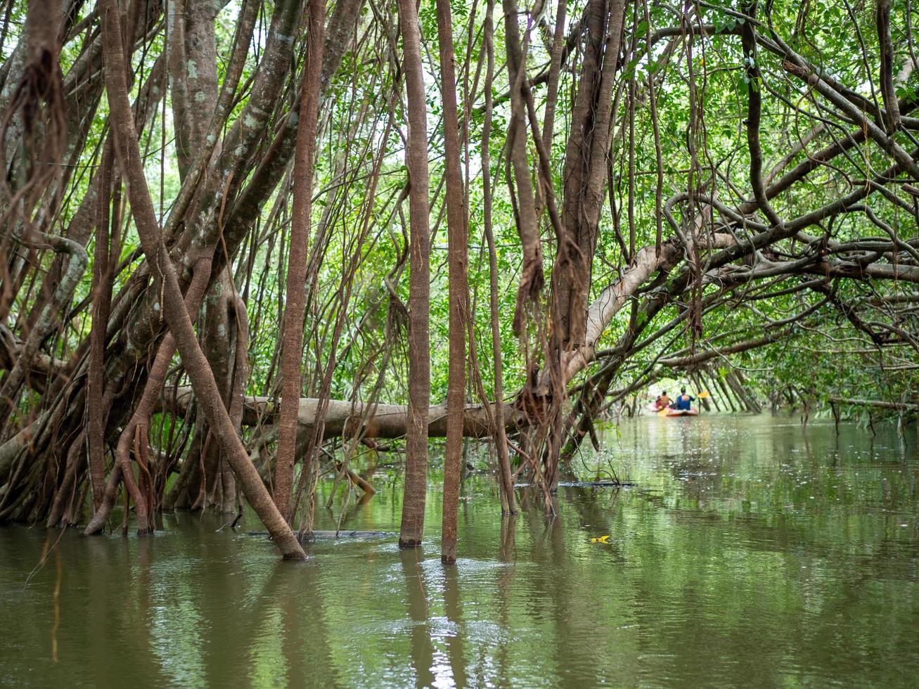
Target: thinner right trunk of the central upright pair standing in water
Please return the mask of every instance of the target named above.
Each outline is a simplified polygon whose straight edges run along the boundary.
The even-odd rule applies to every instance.
[[[450,16],[450,0],[437,0],[437,40],[440,44],[440,93],[444,106],[444,148],[447,166],[450,343],[440,559],[442,562],[453,563],[457,559],[459,467],[462,463],[462,419],[466,405],[466,318],[469,314],[469,283],[466,269],[469,259],[469,232],[466,228],[466,199],[459,171],[459,119],[456,73],[453,68],[453,20]]]

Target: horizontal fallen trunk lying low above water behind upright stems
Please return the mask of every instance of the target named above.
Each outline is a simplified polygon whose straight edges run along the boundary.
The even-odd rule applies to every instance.
[[[189,386],[176,390],[165,390],[162,409],[176,412],[185,417],[191,408],[194,393]],[[362,425],[364,402],[352,405],[345,400],[329,400],[323,417],[323,439],[338,435],[354,435],[361,431],[370,438],[401,438],[405,435],[408,424],[408,406],[404,404],[376,404],[368,413],[367,421]],[[316,410],[319,398],[304,397],[300,401],[297,413],[298,433],[313,428],[316,421]],[[246,395],[243,410],[243,424],[256,425],[275,423],[280,405],[270,397]],[[513,404],[504,405],[505,428],[511,429],[523,422],[523,415]],[[435,404],[428,410],[430,437],[447,436],[447,405]],[[491,424],[488,412],[482,404],[467,404],[463,413],[463,435],[482,438],[491,435]]]

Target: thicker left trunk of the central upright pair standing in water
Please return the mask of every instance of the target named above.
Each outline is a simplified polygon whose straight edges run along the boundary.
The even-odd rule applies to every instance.
[[[408,144],[405,166],[409,174],[409,363],[408,429],[405,434],[405,491],[399,545],[421,545],[425,530],[427,490],[427,408],[431,397],[430,352],[430,233],[427,203],[427,118],[425,79],[421,65],[421,34],[414,0],[399,0],[403,35],[403,70],[408,100]]]

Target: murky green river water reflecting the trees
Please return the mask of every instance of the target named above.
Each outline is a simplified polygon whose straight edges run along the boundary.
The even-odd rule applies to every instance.
[[[477,479],[456,568],[439,491],[423,550],[326,541],[301,564],[177,514],[144,539],[67,532],[36,570],[48,532],[2,528],[0,684],[915,685],[914,430],[905,450],[768,417],[605,437],[579,472],[610,459],[639,488],[563,488],[554,522],[530,500],[503,523]],[[377,482],[347,528],[398,529],[401,485]]]

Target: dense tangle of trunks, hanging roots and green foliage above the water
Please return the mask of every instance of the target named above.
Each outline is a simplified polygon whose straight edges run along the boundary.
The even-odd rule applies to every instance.
[[[404,453],[412,545],[446,435],[448,542],[464,435],[550,511],[662,379],[919,410],[909,2],[0,16],[0,519],[91,533],[124,495],[143,532],[244,492],[297,556],[320,476]]]

